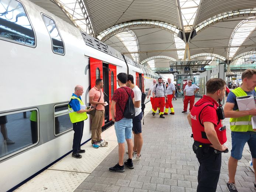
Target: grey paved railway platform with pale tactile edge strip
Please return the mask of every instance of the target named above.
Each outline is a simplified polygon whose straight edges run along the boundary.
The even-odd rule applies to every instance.
[[[118,146],[114,126],[104,131],[108,147],[93,149],[90,141],[82,146],[86,153],[75,159],[71,154],[31,179],[16,191],[75,191],[75,192],[196,192],[198,161],[192,150],[193,139],[183,111],[181,98],[173,101],[175,115],[159,118],[151,114],[151,104],[145,109],[142,125],[143,147],[141,160],[134,161],[134,169],[125,167],[123,173],[110,172],[118,162]],[[229,118],[227,142],[231,150]],[[65,141],[63,141],[65,142]],[[60,146],[61,147],[61,146]],[[127,150],[127,146],[126,146]],[[222,154],[222,167],[218,192],[226,192],[229,153]],[[128,154],[125,154],[125,160]],[[238,162],[236,186],[241,192],[254,192],[254,172],[249,166],[250,153],[246,144]]]

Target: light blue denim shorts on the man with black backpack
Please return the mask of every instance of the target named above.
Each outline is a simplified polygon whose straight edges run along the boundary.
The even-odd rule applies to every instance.
[[[116,121],[114,126],[118,143],[124,143],[125,139],[132,139],[132,119],[122,118]]]

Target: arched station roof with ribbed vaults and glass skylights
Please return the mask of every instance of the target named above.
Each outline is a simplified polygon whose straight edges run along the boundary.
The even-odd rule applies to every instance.
[[[256,49],[255,0],[31,1],[137,62],[152,58],[151,66],[183,60],[186,42],[190,57],[233,60]]]

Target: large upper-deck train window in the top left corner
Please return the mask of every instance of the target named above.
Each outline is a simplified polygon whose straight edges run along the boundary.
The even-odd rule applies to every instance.
[[[23,5],[15,0],[0,2],[0,38],[35,47],[35,34]]]

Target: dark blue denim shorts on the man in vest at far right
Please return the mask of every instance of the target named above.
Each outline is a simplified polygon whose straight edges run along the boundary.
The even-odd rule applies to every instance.
[[[242,158],[243,147],[247,142],[252,155],[252,158],[256,158],[256,132],[231,132],[232,149],[231,157],[240,160]]]

